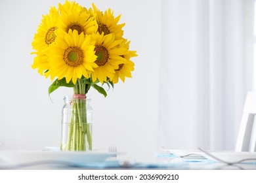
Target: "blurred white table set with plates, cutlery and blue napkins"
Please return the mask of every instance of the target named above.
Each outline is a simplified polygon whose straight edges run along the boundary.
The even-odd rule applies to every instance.
[[[1,150],[0,169],[173,169],[173,170],[255,170],[256,152],[169,150],[155,154],[118,152],[117,147],[91,152],[67,152],[60,148],[43,150]]]

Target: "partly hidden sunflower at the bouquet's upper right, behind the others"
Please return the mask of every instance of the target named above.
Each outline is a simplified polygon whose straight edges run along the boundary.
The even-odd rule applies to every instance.
[[[117,24],[121,15],[115,18],[114,12],[110,8],[103,13],[94,4],[92,14],[95,16],[98,24],[98,33],[104,33],[104,35],[114,33],[116,39],[121,39],[123,36],[122,27],[125,25]]]

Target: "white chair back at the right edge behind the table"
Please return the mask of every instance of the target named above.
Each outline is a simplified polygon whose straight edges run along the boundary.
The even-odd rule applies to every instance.
[[[256,152],[256,93],[248,92],[236,141],[237,152]]]

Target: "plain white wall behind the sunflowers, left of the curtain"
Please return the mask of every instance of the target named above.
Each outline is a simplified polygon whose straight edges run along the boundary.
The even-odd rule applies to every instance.
[[[60,144],[60,117],[64,95],[72,90],[60,88],[48,96],[51,80],[40,76],[33,63],[31,42],[51,6],[63,1],[0,1],[0,143],[5,149],[39,150]],[[133,78],[118,83],[104,98],[90,91],[94,108],[93,142],[95,147],[116,145],[119,150],[153,152],[158,121],[158,81],[161,38],[161,1],[76,1],[112,8],[124,36],[131,40],[134,58]]]

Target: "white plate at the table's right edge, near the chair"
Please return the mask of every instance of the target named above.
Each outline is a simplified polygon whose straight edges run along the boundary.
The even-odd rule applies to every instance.
[[[209,153],[221,160],[228,161],[228,163],[233,163],[242,159],[251,159],[251,161],[256,162],[256,152],[209,151]],[[217,159],[211,158],[211,156],[208,156],[207,154],[204,154],[203,156],[217,161]]]

